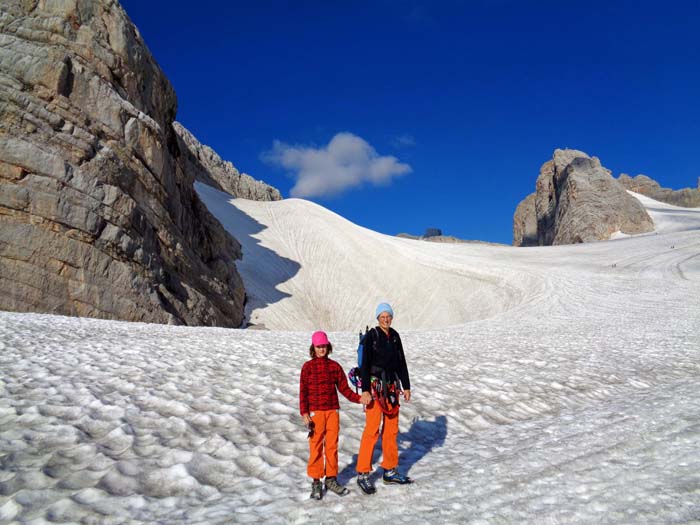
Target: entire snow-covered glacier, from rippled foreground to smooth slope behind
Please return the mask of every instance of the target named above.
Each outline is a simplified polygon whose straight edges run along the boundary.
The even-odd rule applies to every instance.
[[[198,191],[275,331],[0,313],[0,523],[700,522],[700,210],[640,197],[653,234],[510,248]],[[310,331],[347,370],[379,299],[412,375],[417,481],[359,493],[363,413],[343,399],[352,493],[311,501]]]

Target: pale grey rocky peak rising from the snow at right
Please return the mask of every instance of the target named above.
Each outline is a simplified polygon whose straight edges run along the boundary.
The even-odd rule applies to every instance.
[[[537,178],[536,191],[513,217],[514,246],[550,246],[638,234],[654,223],[637,199],[612,178],[596,157],[582,151],[554,152]]]

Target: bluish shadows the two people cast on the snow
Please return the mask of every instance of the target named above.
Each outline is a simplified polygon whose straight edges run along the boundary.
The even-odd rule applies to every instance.
[[[441,447],[447,437],[447,417],[436,416],[434,421],[414,419],[408,432],[399,432],[397,442],[399,444],[399,472],[408,475],[413,465],[423,459],[431,450]],[[376,465],[382,455],[381,435],[372,452],[372,465]],[[357,454],[354,454],[352,461],[338,473],[338,481],[345,485],[355,477],[355,465],[357,465]],[[381,469],[375,468],[370,475],[370,479],[376,482],[381,478]]]

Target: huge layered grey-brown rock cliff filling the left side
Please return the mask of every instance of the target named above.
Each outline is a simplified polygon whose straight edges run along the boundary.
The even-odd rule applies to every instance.
[[[0,309],[239,326],[239,244],[114,0],[0,4]]]

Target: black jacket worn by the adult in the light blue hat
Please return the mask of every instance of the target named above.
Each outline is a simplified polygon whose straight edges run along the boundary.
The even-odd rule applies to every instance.
[[[388,380],[393,379],[394,374],[398,375],[402,388],[404,390],[411,389],[401,337],[393,328],[389,328],[388,336],[378,326],[367,332],[362,350],[362,366],[360,367],[363,392],[370,391],[371,376],[379,377],[381,372],[378,372],[377,369],[386,371]]]

